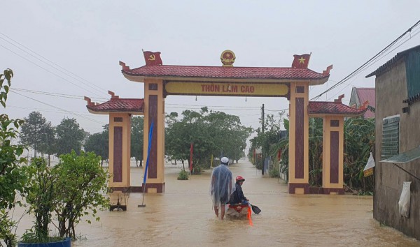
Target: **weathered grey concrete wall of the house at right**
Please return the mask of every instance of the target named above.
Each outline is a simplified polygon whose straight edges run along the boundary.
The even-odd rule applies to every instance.
[[[410,237],[420,239],[420,181],[390,163],[381,163],[382,119],[400,115],[399,153],[420,145],[420,102],[407,107],[405,63],[403,60],[376,78],[375,110],[375,191],[373,217],[380,223],[394,227]],[[400,167],[420,177],[420,159]],[[398,201],[404,181],[412,181],[409,218],[400,216]]]

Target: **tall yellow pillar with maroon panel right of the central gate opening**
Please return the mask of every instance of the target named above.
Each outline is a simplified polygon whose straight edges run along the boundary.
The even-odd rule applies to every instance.
[[[290,83],[288,193],[309,194],[309,85]]]

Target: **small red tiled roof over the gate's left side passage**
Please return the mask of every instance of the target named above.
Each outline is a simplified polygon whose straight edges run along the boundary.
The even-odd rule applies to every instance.
[[[93,112],[132,112],[142,113],[144,110],[143,98],[111,98],[99,105],[86,105]]]

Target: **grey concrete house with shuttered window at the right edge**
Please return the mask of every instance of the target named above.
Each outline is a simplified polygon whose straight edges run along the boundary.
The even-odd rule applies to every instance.
[[[373,217],[420,239],[420,45],[399,52],[375,75],[375,188]],[[400,214],[405,181],[408,216]]]

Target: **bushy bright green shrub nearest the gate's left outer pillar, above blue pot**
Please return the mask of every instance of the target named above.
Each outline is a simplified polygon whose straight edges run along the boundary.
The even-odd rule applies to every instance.
[[[55,213],[60,237],[76,237],[75,226],[82,216],[92,214],[96,220],[97,207],[109,207],[106,198],[108,172],[100,165],[100,156],[76,151],[59,157],[60,163],[52,169],[57,178]],[[90,220],[87,220],[90,223]]]

